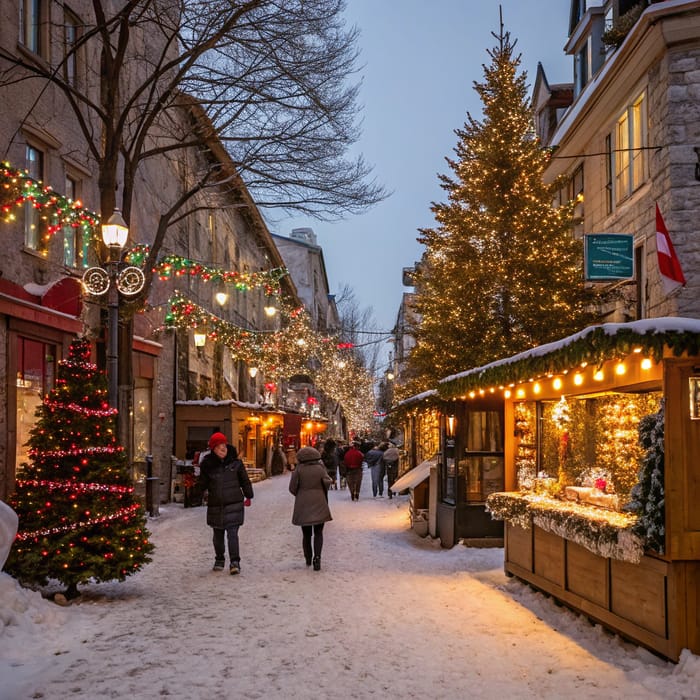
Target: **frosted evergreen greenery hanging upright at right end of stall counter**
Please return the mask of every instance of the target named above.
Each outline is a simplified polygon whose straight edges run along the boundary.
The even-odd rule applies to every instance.
[[[634,532],[646,546],[659,554],[665,545],[664,498],[664,404],[657,413],[639,421],[639,443],[645,454],[639,470],[639,481],[632,488],[625,510],[636,513]]]

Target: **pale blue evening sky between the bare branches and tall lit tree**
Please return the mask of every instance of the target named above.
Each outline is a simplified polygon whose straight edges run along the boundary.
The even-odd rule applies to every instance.
[[[481,118],[473,89],[483,80],[487,49],[496,45],[499,4],[530,90],[537,63],[552,83],[571,82],[564,54],[567,0],[348,0],[360,31],[362,137],[357,144],[377,179],[393,194],[368,212],[339,222],[292,218],[270,225],[289,236],[310,226],[323,247],[331,293],[350,284],[361,308],[372,307],[380,329],[393,328],[401,271],[420,259],[419,228],[434,225],[431,202],[444,201],[439,173],[450,173],[467,112]]]

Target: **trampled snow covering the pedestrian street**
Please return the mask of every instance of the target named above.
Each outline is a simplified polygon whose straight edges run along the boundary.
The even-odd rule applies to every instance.
[[[161,506],[156,552],[56,606],[0,573],[0,700],[698,698],[665,662],[503,574],[501,549],[442,549],[406,496],[331,491],[322,570],[304,564],[288,475],[255,485],[242,573],[211,571],[204,508]]]

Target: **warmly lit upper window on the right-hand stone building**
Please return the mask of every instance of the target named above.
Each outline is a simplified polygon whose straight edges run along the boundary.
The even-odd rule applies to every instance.
[[[612,135],[606,139],[607,170],[613,190],[609,197],[611,210],[613,203],[628,197],[644,182],[646,145],[646,100],[642,94],[620,115]]]

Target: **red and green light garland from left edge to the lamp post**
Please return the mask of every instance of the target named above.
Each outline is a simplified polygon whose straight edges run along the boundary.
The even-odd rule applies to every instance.
[[[91,237],[97,238],[100,217],[95,212],[83,207],[80,201],[57,194],[50,185],[35,180],[26,170],[3,162],[0,165],[0,213],[4,221],[14,221],[13,210],[26,202],[50,217],[47,239],[65,226],[82,228]]]

